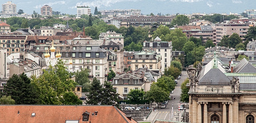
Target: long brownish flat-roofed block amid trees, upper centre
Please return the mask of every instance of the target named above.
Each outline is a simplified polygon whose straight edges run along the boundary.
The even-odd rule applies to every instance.
[[[129,16],[121,21],[120,27],[152,27],[154,23],[168,25],[174,16]]]

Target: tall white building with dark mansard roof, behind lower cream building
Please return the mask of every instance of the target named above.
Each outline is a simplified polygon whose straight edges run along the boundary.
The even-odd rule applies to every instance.
[[[158,54],[161,54],[162,59],[164,61],[161,61],[161,72],[167,68],[167,66],[170,66],[170,62],[172,61],[172,42],[162,42],[159,37],[155,38],[154,41],[144,41],[143,42],[143,50],[153,50],[157,52]]]

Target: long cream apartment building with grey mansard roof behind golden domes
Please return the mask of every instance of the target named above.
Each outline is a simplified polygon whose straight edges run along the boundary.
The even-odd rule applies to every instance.
[[[101,81],[101,84],[106,80],[106,74],[108,73],[108,57],[107,51],[99,45],[37,45],[31,51],[39,56],[45,56],[46,52],[52,54],[57,54],[55,50],[51,49],[54,47],[56,52],[60,53],[60,59],[65,62],[65,66],[69,68],[72,65],[72,70],[79,71],[81,69],[89,69],[90,80],[94,77]],[[51,51],[49,51],[49,49]],[[47,51],[48,50],[48,51]],[[53,53],[52,53],[53,52]],[[55,57],[54,57],[55,58]],[[71,63],[71,64],[70,64]]]

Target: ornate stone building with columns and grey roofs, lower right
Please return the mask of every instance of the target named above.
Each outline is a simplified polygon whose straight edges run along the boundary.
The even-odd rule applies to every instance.
[[[256,123],[256,69],[246,59],[225,64],[214,57],[187,72],[189,122]]]

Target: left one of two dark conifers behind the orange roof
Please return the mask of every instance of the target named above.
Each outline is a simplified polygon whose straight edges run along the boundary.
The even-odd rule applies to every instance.
[[[101,82],[94,77],[93,81],[91,82],[91,88],[89,91],[88,97],[88,104],[97,105],[98,103],[102,102],[102,85]]]

